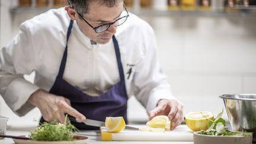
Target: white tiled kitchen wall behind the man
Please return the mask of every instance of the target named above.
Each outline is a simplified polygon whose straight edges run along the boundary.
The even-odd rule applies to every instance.
[[[13,15],[8,37],[17,33],[22,21],[39,11],[32,12]],[[162,69],[174,95],[184,103],[184,113],[207,110],[217,114],[224,107],[219,95],[256,93],[255,15],[170,12],[142,18],[155,30]],[[7,43],[9,38],[1,41]],[[18,119],[1,104],[1,115]],[[128,115],[132,121],[147,120],[146,111],[135,98],[129,100]],[[39,110],[23,119],[33,117],[39,117]]]

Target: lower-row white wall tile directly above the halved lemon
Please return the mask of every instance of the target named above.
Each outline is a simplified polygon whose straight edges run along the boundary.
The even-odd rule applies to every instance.
[[[168,74],[168,73],[167,73]],[[168,75],[174,95],[215,95],[242,92],[241,77],[214,73],[183,73]]]

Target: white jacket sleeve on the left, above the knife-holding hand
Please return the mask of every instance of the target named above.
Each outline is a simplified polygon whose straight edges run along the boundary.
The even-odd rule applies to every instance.
[[[36,66],[33,43],[25,24],[18,35],[0,51],[0,94],[14,113],[23,116],[32,108],[28,98],[39,87],[24,79]]]

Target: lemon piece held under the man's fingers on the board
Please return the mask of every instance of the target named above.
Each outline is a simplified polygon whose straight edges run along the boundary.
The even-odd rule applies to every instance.
[[[162,128],[169,130],[171,128],[171,121],[168,119],[167,116],[156,116],[152,120],[148,121],[146,125],[153,128]]]

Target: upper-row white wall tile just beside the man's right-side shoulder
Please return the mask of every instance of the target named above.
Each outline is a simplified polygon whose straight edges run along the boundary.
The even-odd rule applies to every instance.
[[[164,71],[181,69],[183,46],[178,18],[153,17],[148,22],[155,30],[158,42],[158,57]]]

